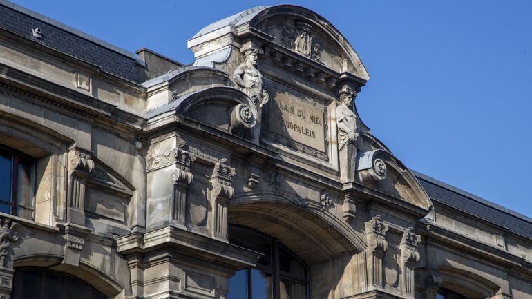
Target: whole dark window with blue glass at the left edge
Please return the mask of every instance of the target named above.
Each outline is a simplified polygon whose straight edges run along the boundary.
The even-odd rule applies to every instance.
[[[33,219],[35,160],[0,145],[0,212]]]

